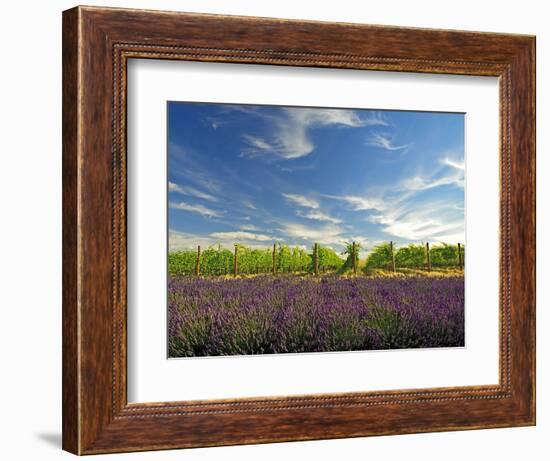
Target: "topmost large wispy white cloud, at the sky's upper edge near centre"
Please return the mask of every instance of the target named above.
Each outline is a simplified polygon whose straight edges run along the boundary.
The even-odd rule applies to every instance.
[[[356,111],[346,109],[283,108],[277,115],[264,115],[271,125],[273,136],[265,138],[251,134],[243,135],[247,146],[241,151],[245,157],[270,154],[282,159],[295,159],[309,155],[315,145],[309,130],[323,126],[343,126],[350,128],[368,125],[387,125],[381,115],[361,118]]]

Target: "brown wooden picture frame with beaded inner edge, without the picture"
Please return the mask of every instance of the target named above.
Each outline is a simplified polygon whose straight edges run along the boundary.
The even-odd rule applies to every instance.
[[[128,404],[131,58],[496,76],[500,380]],[[63,448],[93,454],[535,424],[535,38],[77,7],[63,13]]]

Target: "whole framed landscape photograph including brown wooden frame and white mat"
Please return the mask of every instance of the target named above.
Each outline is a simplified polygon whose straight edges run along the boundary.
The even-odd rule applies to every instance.
[[[63,13],[63,448],[535,424],[535,39]]]

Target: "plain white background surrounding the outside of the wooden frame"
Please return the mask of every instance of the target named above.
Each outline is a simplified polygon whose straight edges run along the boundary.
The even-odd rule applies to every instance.
[[[87,4],[105,5],[88,1]],[[334,441],[118,455],[120,459],[270,460],[547,459],[550,437],[548,160],[550,14],[545,3],[462,0],[115,1],[109,6],[537,35],[538,425]],[[4,2],[0,15],[0,453],[3,459],[69,459],[61,452],[61,11],[71,1]],[[543,259],[545,261],[543,261]],[[546,335],[546,337],[545,337]],[[543,452],[546,451],[546,453]],[[101,458],[101,457],[99,457]],[[97,459],[99,459],[97,458]]]

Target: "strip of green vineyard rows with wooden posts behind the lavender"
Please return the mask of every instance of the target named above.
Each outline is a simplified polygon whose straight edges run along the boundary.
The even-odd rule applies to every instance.
[[[169,253],[168,269],[171,276],[224,276],[348,272],[369,275],[377,269],[399,272],[464,267],[464,246],[460,244],[410,244],[395,248],[392,242],[387,242],[372,248],[364,261],[359,260],[360,249],[361,246],[355,242],[347,244],[342,254],[318,244],[313,245],[309,252],[284,244],[272,248],[235,245],[233,251],[221,246],[203,251],[197,247],[197,250]]]

